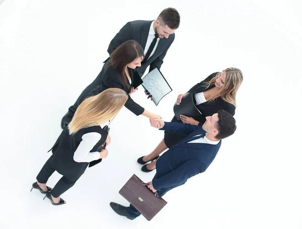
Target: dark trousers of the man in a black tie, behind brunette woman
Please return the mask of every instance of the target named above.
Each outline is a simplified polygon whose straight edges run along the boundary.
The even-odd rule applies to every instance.
[[[77,101],[75,101],[74,104],[68,108],[67,117],[69,117],[70,120],[73,118],[75,110],[77,110],[78,106],[81,104],[81,102],[83,102],[85,100],[87,95],[89,95],[90,92],[93,89],[95,89],[97,86],[101,85],[105,65],[106,64],[103,65],[103,68],[102,68],[101,72],[99,73],[99,75],[97,76],[97,78],[90,85],[88,85],[84,89],[84,91],[82,91],[82,93],[78,97]]]

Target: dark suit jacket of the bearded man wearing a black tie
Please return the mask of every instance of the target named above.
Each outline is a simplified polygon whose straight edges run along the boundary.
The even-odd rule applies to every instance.
[[[151,23],[153,21],[133,21],[128,22],[126,25],[121,28],[121,30],[115,35],[108,47],[109,55],[122,43],[128,40],[135,40],[137,41],[142,49],[145,48],[147,38],[149,35],[149,30]],[[150,65],[149,71],[152,71],[156,67],[158,69],[161,68],[163,64],[164,57],[167,54],[168,49],[170,48],[172,42],[175,39],[175,34],[169,35],[168,38],[160,39],[159,45],[154,53],[141,67],[136,69],[136,72],[141,77],[145,72],[146,68]],[[108,59],[107,59],[108,60]],[[106,60],[106,61],[107,61]],[[105,61],[105,62],[106,62]]]

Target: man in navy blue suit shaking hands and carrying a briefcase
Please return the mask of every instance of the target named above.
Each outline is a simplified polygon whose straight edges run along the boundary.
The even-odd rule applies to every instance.
[[[158,119],[150,121],[151,126],[177,134],[188,135],[165,152],[157,161],[155,174],[148,188],[163,196],[168,191],[186,183],[187,179],[204,172],[214,160],[221,139],[234,134],[236,121],[230,113],[219,110],[206,117],[202,127],[183,123],[166,123]],[[119,215],[134,219],[140,212],[130,204],[129,207],[111,202],[110,206]]]

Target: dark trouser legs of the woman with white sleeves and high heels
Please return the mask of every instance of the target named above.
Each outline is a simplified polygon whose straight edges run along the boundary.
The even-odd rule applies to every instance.
[[[55,169],[53,169],[50,165],[50,161],[52,159],[51,157],[46,161],[44,166],[42,167],[41,171],[39,172],[37,176],[37,181],[46,184],[48,181],[48,178],[54,173]],[[70,179],[65,176],[62,176],[62,178],[56,183],[56,185],[51,190],[51,195],[55,198],[59,197],[61,194],[63,194],[65,191],[67,191],[69,188],[71,188],[77,179]]]

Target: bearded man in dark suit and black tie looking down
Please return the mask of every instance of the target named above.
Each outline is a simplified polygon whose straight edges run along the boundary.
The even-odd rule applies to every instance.
[[[145,54],[145,57],[141,62],[141,66],[136,69],[136,76],[142,77],[149,65],[149,71],[152,71],[155,68],[161,68],[163,59],[174,41],[174,32],[179,27],[179,24],[180,16],[177,10],[174,8],[167,8],[163,10],[155,21],[139,20],[128,22],[112,39],[107,51],[109,55],[111,55],[111,53],[124,42],[128,40],[137,41],[143,48]],[[106,61],[104,63],[106,63]],[[68,112],[61,121],[62,129],[64,129],[71,121],[79,104],[94,88],[100,85],[101,73],[89,86],[84,89],[77,101],[75,101],[75,103],[69,107]]]

